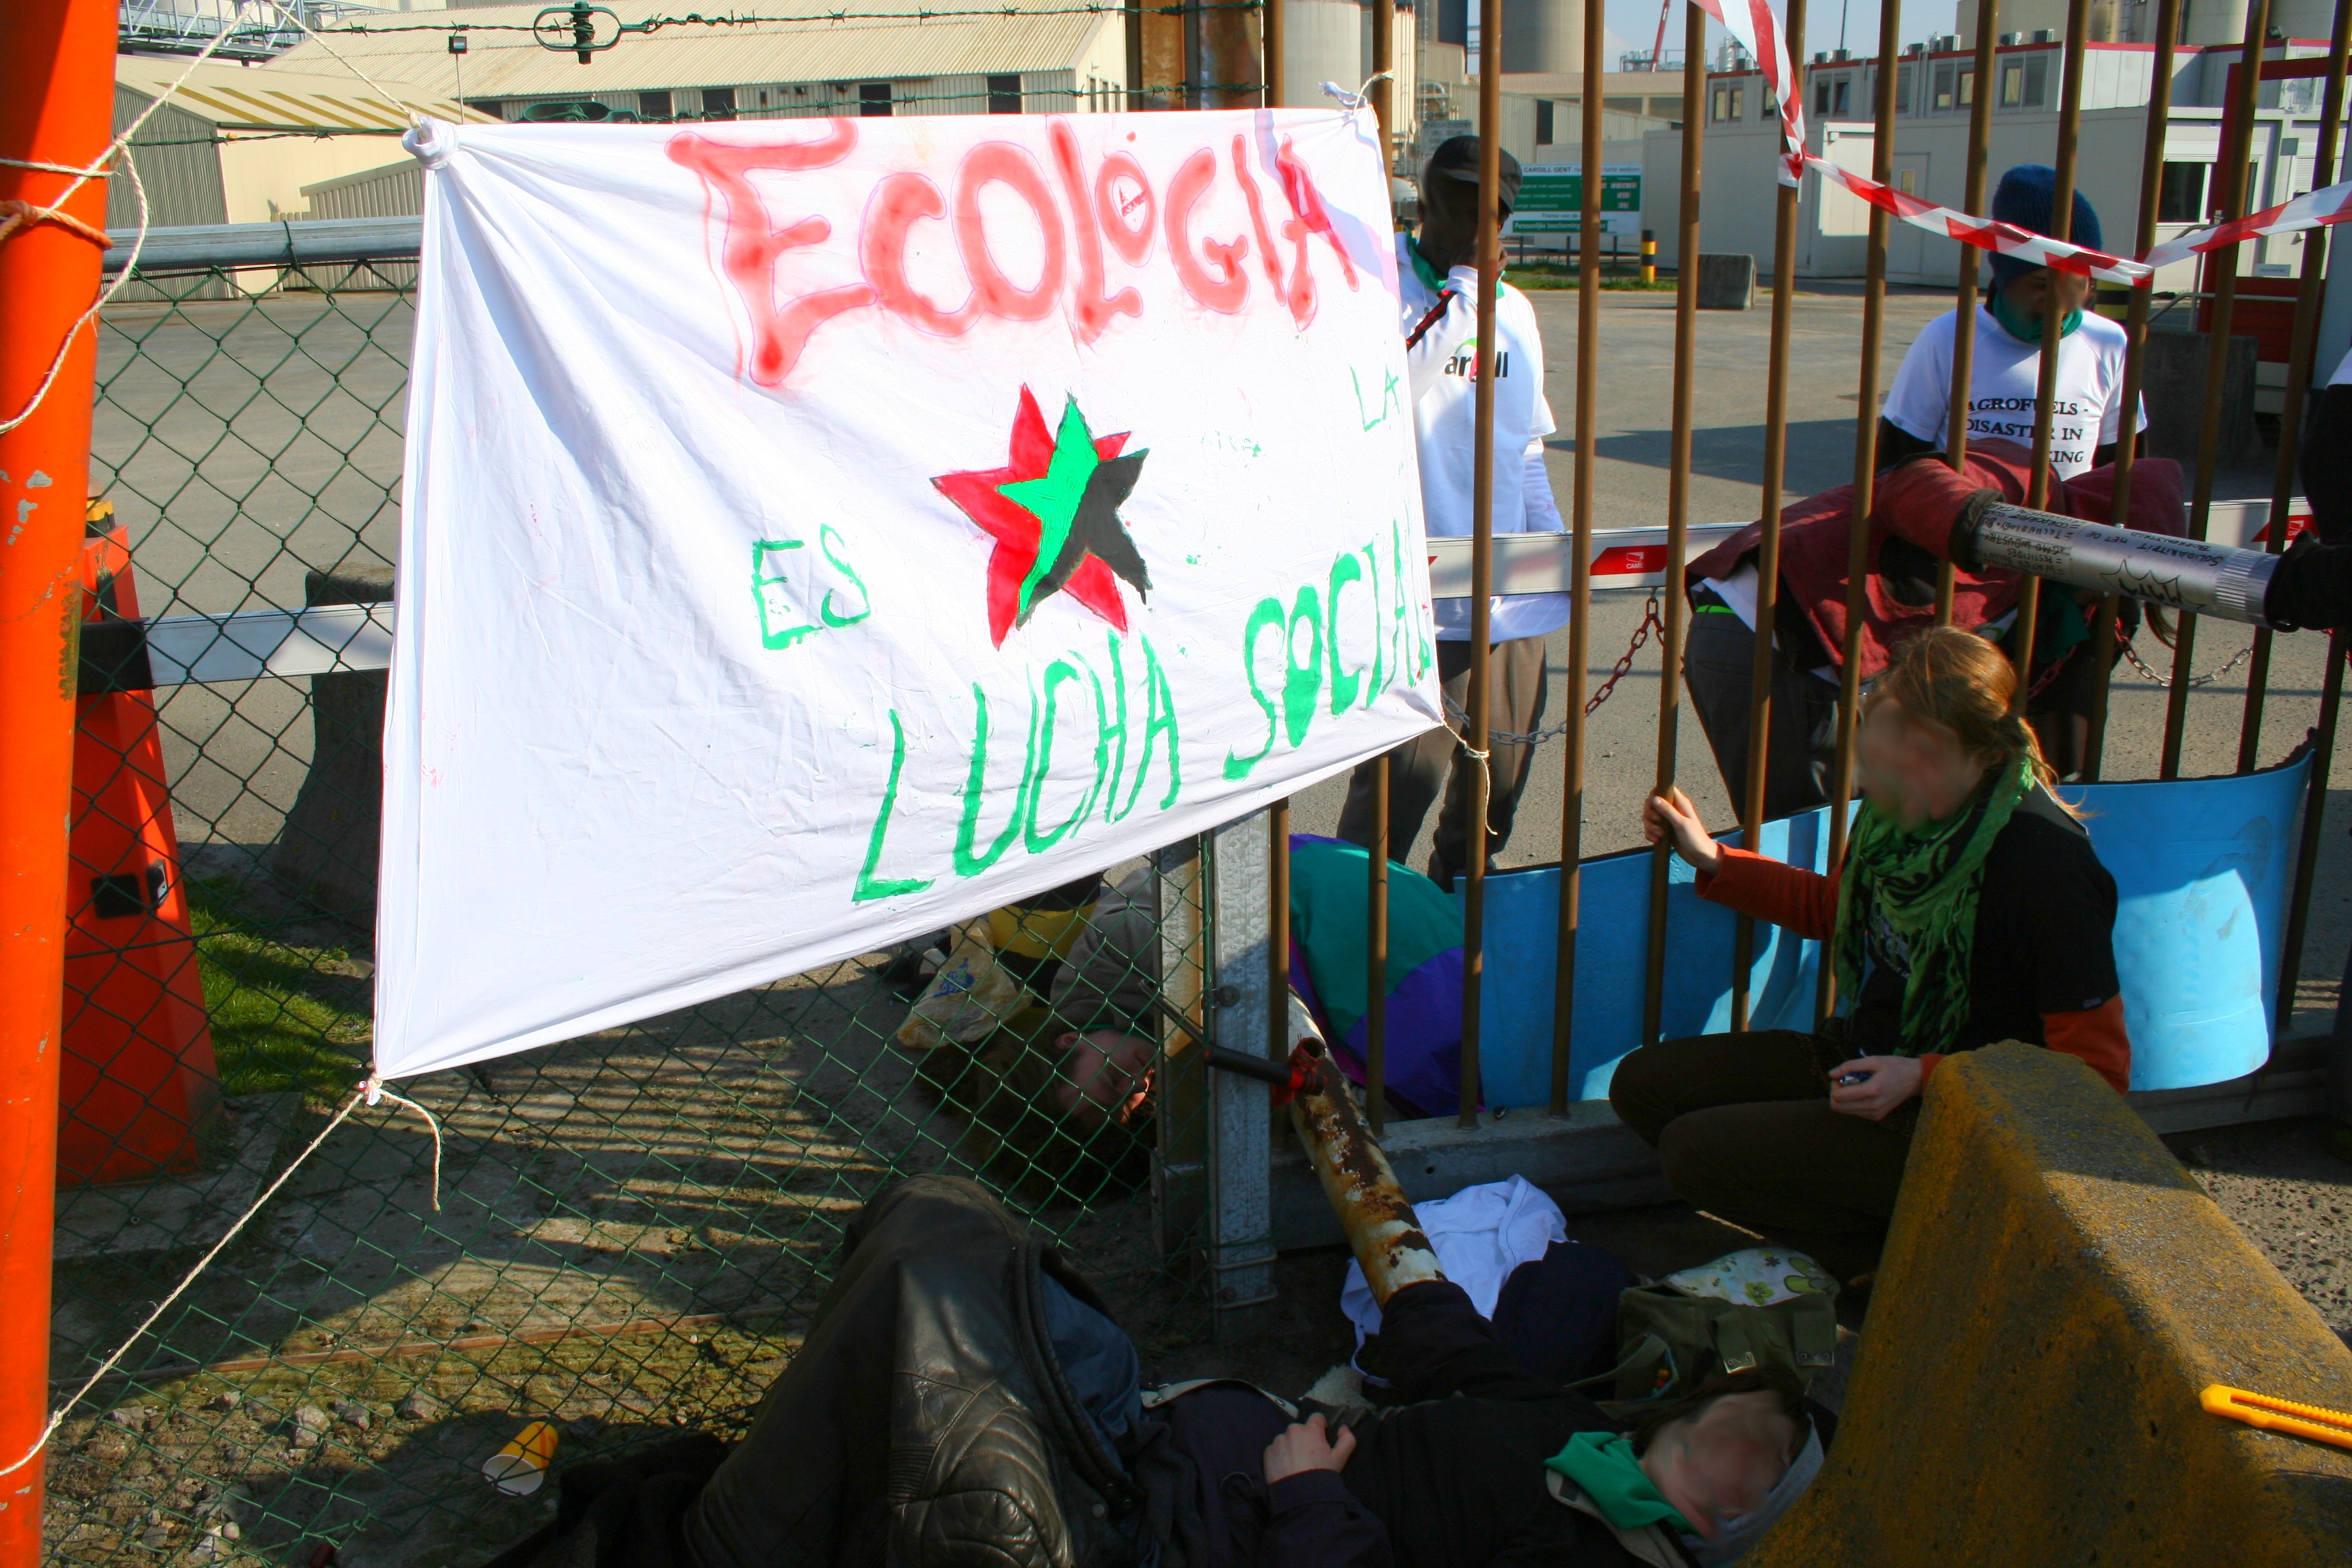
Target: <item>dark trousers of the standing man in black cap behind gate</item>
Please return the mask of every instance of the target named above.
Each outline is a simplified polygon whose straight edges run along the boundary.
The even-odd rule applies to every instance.
[[[1531,736],[1543,726],[1543,637],[1515,637],[1496,642],[1486,651],[1486,726]],[[1437,682],[1446,693],[1449,715],[1470,710],[1470,644],[1437,644]],[[1465,719],[1454,719],[1454,729],[1470,733]],[[1534,745],[1489,741],[1486,769],[1494,788],[1486,797],[1486,860],[1510,842],[1510,820],[1519,809],[1519,792],[1536,764]],[[1446,804],[1437,813],[1437,832],[1430,844],[1430,877],[1446,886],[1470,863],[1470,820],[1477,816],[1477,762],[1461,748],[1446,729],[1432,729],[1416,741],[1406,741],[1388,752],[1388,858],[1404,860],[1421,837],[1421,818],[1430,813],[1444,790]],[[1350,844],[1371,846],[1371,797],[1378,780],[1378,759],[1357,766],[1348,780],[1348,804],[1338,813],[1338,837]]]

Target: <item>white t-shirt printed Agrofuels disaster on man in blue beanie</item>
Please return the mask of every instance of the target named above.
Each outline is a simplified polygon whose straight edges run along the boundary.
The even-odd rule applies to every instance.
[[[1933,442],[1943,451],[1952,414],[1952,317],[1938,315],[1903,355],[1903,369],[1879,409],[1898,430]],[[1969,364],[1969,440],[2034,444],[2042,393],[2042,346],[2020,343],[1976,310],[1976,357]],[[2058,343],[2056,414],[2051,416],[2051,475],[2072,480],[2091,468],[2091,456],[2124,428],[2124,329],[2105,315],[2084,313],[2082,327]],[[2140,404],[2136,430],[2147,428]]]

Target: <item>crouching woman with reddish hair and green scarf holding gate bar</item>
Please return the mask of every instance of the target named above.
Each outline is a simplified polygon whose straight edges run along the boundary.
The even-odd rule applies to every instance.
[[[1863,804],[1830,877],[1717,844],[1682,790],[1642,809],[1703,898],[1832,943],[1842,1018],[1642,1046],[1609,1103],[1658,1145],[1675,1192],[1839,1279],[1877,1265],[1917,1095],[1947,1053],[2023,1039],[2117,1091],[2131,1079],[2114,877],[2049,792],[2013,696],[1983,637],[1931,628],[1900,644],[1863,705]]]

